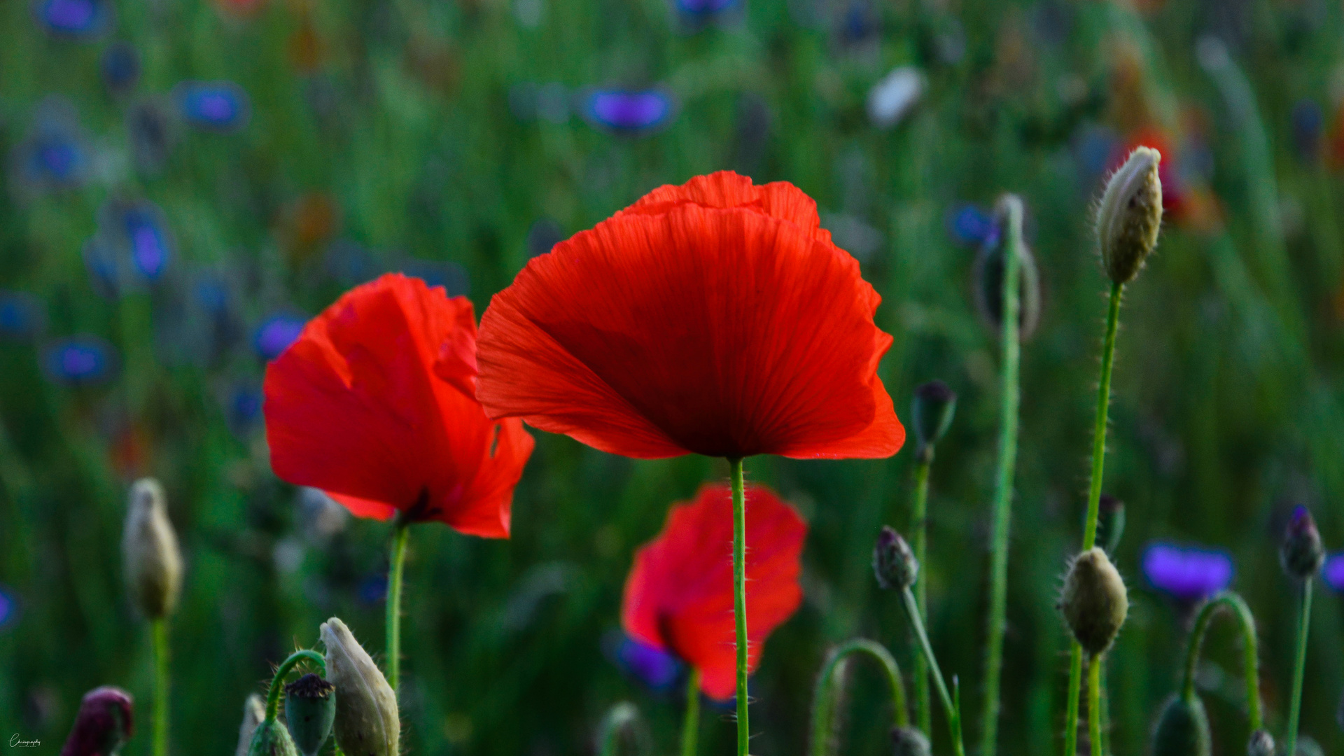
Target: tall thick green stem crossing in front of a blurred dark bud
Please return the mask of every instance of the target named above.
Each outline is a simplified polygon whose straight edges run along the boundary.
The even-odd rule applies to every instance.
[[[999,739],[999,687],[1004,666],[1004,624],[1008,612],[1008,527],[1012,522],[1013,471],[1017,465],[1019,356],[1017,335],[1021,277],[1021,200],[1003,199],[1008,229],[1004,249],[1003,374],[1000,377],[999,474],[995,482],[993,533],[989,557],[989,630],[985,635],[985,708],[981,717],[980,752],[995,756]],[[923,608],[923,607],[921,607]]]

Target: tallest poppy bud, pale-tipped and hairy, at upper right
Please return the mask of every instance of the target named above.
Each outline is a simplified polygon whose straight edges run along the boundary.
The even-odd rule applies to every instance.
[[[1106,182],[1097,209],[1097,241],[1106,274],[1128,284],[1157,248],[1163,225],[1163,182],[1157,165],[1163,155],[1137,147]]]

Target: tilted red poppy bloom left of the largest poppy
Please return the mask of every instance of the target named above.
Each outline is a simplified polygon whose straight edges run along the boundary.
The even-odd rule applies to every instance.
[[[398,273],[351,289],[266,369],[276,475],[359,517],[508,537],[534,440],[473,398],[474,347],[466,297]]]

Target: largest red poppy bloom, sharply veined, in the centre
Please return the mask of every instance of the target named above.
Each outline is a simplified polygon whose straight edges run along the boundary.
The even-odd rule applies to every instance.
[[[528,262],[481,319],[477,398],[632,457],[886,457],[880,299],[798,188],[699,176]]]

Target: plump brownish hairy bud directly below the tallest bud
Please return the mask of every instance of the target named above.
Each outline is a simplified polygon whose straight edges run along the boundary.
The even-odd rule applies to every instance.
[[[1106,552],[1093,547],[1074,557],[1059,605],[1083,650],[1095,656],[1110,647],[1129,613],[1129,596]]]

